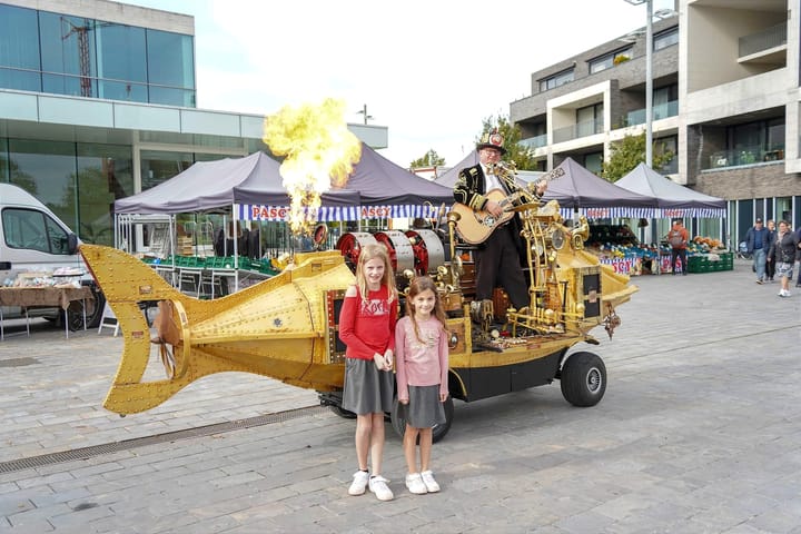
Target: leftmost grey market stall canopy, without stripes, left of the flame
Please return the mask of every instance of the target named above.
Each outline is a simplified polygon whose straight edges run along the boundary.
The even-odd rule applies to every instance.
[[[186,214],[228,208],[239,201],[237,186],[258,186],[275,204],[288,206],[279,165],[260,150],[244,158],[198,161],[156,187],[115,201],[115,212]],[[325,194],[323,202],[333,207],[356,206],[359,196],[358,191],[336,191]]]

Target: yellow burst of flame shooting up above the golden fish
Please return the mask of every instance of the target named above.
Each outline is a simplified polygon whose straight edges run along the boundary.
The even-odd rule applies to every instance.
[[[309,234],[317,221],[320,195],[342,187],[362,157],[362,144],[344,119],[345,102],[326,99],[320,106],[286,106],[265,119],[264,141],[280,166],[291,198],[293,234]]]

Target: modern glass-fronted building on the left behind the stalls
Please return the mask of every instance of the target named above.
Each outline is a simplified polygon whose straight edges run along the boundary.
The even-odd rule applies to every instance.
[[[264,116],[197,107],[195,19],[108,0],[0,0],[0,181],[89,243],[118,198],[265,148]],[[373,148],[387,128],[348,125]]]

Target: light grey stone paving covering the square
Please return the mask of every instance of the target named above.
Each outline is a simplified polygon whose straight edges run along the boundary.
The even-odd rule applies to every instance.
[[[433,451],[438,494],[406,491],[387,424],[395,500],[348,496],[355,424],[309,409],[0,468],[0,533],[801,534],[801,289],[779,298],[740,260],[633,281],[614,338],[599,328],[600,346],[576,347],[606,363],[601,404],[572,407],[558,383],[456,402]],[[120,418],[101,403],[121,347],[109,329],[65,339],[44,324],[0,343],[0,467],[317,404],[314,392],[228,373]]]

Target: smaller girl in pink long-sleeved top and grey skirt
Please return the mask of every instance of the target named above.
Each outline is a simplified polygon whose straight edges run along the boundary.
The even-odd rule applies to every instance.
[[[436,285],[427,276],[409,283],[406,316],[395,328],[395,366],[398,402],[406,411],[404,455],[406,487],[415,494],[434,493],[431,461],[432,427],[445,423],[443,403],[447,399],[448,335],[445,312]],[[417,437],[419,436],[419,469]]]

